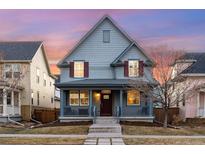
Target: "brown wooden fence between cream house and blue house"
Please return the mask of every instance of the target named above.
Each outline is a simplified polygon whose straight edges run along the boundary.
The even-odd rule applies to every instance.
[[[59,112],[59,109],[34,109],[34,118],[42,123],[48,123],[57,120]]]

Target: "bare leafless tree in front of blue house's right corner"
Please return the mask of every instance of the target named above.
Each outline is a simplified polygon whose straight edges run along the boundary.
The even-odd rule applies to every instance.
[[[150,55],[156,63],[153,68],[155,82],[134,79],[130,80],[129,87],[140,90],[157,100],[157,105],[164,111],[163,126],[167,127],[169,108],[178,106],[179,103],[191,98],[196,94],[196,89],[201,83],[198,80],[193,81],[181,75],[181,72],[188,66],[183,62],[180,64],[175,62],[184,55],[184,51],[159,46],[151,48]]]

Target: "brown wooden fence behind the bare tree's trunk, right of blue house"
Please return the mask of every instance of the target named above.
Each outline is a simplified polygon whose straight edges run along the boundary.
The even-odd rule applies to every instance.
[[[170,108],[168,111],[168,123],[171,124],[174,120],[174,116],[179,115],[179,108]],[[164,122],[164,110],[162,108],[154,108],[155,120]]]

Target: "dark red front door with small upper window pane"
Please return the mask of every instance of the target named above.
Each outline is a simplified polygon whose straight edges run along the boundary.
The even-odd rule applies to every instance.
[[[112,94],[101,94],[101,116],[112,116]]]

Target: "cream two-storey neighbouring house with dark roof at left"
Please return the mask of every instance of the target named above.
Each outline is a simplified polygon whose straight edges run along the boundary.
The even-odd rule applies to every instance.
[[[0,121],[30,120],[34,109],[56,106],[42,42],[0,42],[0,54]]]

